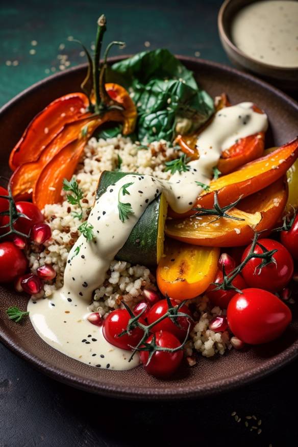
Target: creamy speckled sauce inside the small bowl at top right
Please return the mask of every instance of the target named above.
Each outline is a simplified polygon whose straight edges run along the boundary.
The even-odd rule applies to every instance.
[[[298,2],[266,0],[235,16],[232,40],[243,53],[279,67],[298,67]]]

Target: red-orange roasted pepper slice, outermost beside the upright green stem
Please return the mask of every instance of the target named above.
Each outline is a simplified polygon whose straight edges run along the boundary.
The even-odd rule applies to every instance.
[[[22,137],[13,148],[9,166],[15,170],[23,163],[38,160],[43,149],[72,121],[86,115],[88,106],[84,93],[70,93],[49,104],[30,122]]]

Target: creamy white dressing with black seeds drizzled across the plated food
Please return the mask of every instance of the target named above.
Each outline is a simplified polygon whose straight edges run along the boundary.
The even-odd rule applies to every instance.
[[[265,114],[256,113],[252,103],[241,103],[217,112],[200,134],[197,146],[200,158],[188,163],[189,170],[174,173],[169,181],[147,175],[128,175],[96,200],[88,217],[94,238],[81,235],[73,245],[64,272],[64,286],[50,299],[30,300],[30,319],[40,337],[49,345],[81,362],[110,369],[130,369],[139,364],[138,355],[128,362],[131,353],[108,343],[102,329],[86,318],[94,289],[100,287],[111,261],[128,239],[148,204],[163,192],[173,210],[185,212],[193,207],[202,187],[209,184],[212,168],[222,150],[239,138],[267,128]],[[123,185],[129,194],[123,196]],[[134,214],[121,221],[118,201],[130,203]]]

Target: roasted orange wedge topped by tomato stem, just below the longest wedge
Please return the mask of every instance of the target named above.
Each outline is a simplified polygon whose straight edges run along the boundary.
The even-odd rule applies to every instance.
[[[194,245],[233,247],[247,245],[254,232],[268,230],[281,217],[287,202],[287,184],[284,178],[267,188],[246,197],[229,215],[244,220],[214,216],[192,216],[185,219],[168,220],[167,236]]]

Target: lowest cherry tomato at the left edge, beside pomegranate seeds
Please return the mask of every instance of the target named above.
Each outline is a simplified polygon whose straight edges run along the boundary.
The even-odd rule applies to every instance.
[[[26,271],[28,261],[12,242],[0,243],[0,283],[9,283]]]

